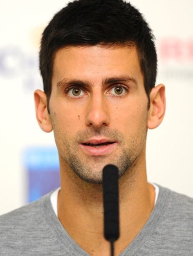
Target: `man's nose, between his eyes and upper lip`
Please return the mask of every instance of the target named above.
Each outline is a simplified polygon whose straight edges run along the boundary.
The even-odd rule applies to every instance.
[[[109,125],[110,117],[104,95],[93,95],[87,105],[86,126],[100,128]]]

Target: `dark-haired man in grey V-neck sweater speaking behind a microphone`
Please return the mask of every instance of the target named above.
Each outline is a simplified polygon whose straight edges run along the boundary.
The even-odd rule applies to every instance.
[[[109,255],[102,169],[119,168],[115,255],[193,255],[192,199],[147,182],[147,130],[165,113],[153,35],[122,0],[78,0],[41,41],[37,121],[53,130],[61,188],[1,217],[1,255]]]

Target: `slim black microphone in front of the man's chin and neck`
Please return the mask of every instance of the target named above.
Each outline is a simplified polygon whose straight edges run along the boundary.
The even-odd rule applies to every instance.
[[[114,242],[119,237],[118,168],[108,164],[103,169],[104,237],[111,244],[114,255]]]

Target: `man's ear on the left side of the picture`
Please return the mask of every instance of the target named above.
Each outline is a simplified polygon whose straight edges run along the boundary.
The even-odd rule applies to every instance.
[[[34,92],[34,100],[36,118],[39,126],[44,132],[51,132],[53,128],[51,124],[50,114],[48,113],[46,94],[41,90],[36,90]]]

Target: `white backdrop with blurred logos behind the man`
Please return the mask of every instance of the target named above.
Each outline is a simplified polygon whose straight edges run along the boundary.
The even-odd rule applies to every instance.
[[[35,120],[33,91],[41,88],[39,39],[53,14],[68,1],[0,0],[0,213],[26,203],[23,149],[54,144]],[[158,83],[167,93],[163,124],[150,130],[149,181],[193,197],[193,2],[131,0],[156,35]]]

